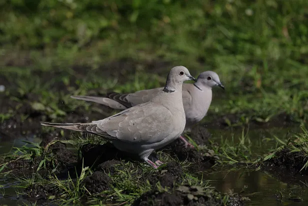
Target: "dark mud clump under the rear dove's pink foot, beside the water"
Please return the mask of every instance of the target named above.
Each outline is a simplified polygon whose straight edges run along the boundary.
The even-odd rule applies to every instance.
[[[161,150],[174,154],[179,161],[187,160],[188,162],[191,162],[192,165],[190,169],[194,171],[209,169],[215,164],[216,157],[209,155],[208,152],[200,152],[196,148],[185,148],[180,139],[176,139],[172,143],[163,147]]]

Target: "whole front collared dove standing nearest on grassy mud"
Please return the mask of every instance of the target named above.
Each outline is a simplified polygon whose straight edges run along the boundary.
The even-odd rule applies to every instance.
[[[91,123],[41,122],[41,125],[100,135],[117,149],[138,154],[157,168],[162,162],[157,160],[153,163],[148,159],[149,155],[178,138],[185,128],[181,98],[182,83],[186,80],[196,81],[185,67],[173,67],[164,88],[146,103]]]

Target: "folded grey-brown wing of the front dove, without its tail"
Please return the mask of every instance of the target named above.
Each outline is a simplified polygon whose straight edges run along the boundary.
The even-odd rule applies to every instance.
[[[166,122],[171,123],[174,119],[168,109],[153,104],[140,104],[127,109],[129,112],[95,123],[99,129],[121,141],[136,144],[159,142],[173,131],[172,124],[167,125]]]

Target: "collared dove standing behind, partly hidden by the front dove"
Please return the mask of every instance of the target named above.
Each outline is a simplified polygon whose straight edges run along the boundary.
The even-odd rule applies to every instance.
[[[186,129],[201,121],[206,115],[212,99],[211,89],[214,86],[219,86],[224,89],[218,75],[212,71],[202,72],[194,84],[183,84],[182,101],[186,116]],[[113,92],[107,94],[106,97],[71,96],[71,98],[95,102],[113,109],[123,110],[150,101],[162,90],[163,87],[159,87],[130,94],[118,94]],[[180,135],[179,138],[184,142],[185,147],[193,147],[182,135]]]

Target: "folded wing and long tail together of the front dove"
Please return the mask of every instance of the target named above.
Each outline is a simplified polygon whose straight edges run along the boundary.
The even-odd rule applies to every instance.
[[[41,124],[96,134],[107,139],[148,144],[159,142],[168,137],[174,130],[172,121],[174,121],[173,115],[167,108],[149,102],[91,123],[57,124],[41,122]]]

